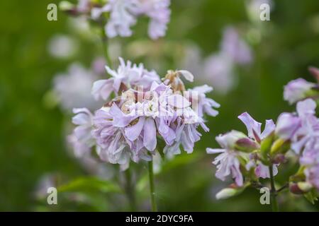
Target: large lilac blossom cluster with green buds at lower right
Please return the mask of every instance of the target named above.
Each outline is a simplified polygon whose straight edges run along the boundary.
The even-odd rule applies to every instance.
[[[216,177],[221,180],[231,174],[235,184],[220,191],[217,198],[239,194],[247,186],[259,186],[260,178],[274,177],[277,167],[287,161],[287,153],[298,158],[300,168],[289,178],[293,194],[318,196],[319,191],[319,120],[316,104],[311,99],[298,102],[296,112],[282,113],[276,124],[262,124],[246,112],[238,117],[247,127],[248,135],[230,131],[216,138],[223,149],[207,148],[208,153],[221,153],[213,161]],[[270,171],[272,170],[272,172]]]

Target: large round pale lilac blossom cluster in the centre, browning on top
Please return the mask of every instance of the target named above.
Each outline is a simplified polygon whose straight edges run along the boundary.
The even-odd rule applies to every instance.
[[[192,153],[201,137],[198,126],[208,131],[203,114],[218,114],[213,109],[218,103],[206,97],[211,87],[186,90],[181,77],[193,81],[189,71],[168,71],[161,80],[155,71],[121,58],[116,71],[108,66],[106,71],[111,78],[96,81],[91,90],[96,99],[106,100],[105,105],[94,114],[74,109],[72,143],[77,153],[95,145],[101,160],[124,169],[130,160],[152,160],[159,139],[164,141],[159,150],[163,154],[179,154],[180,147]]]

